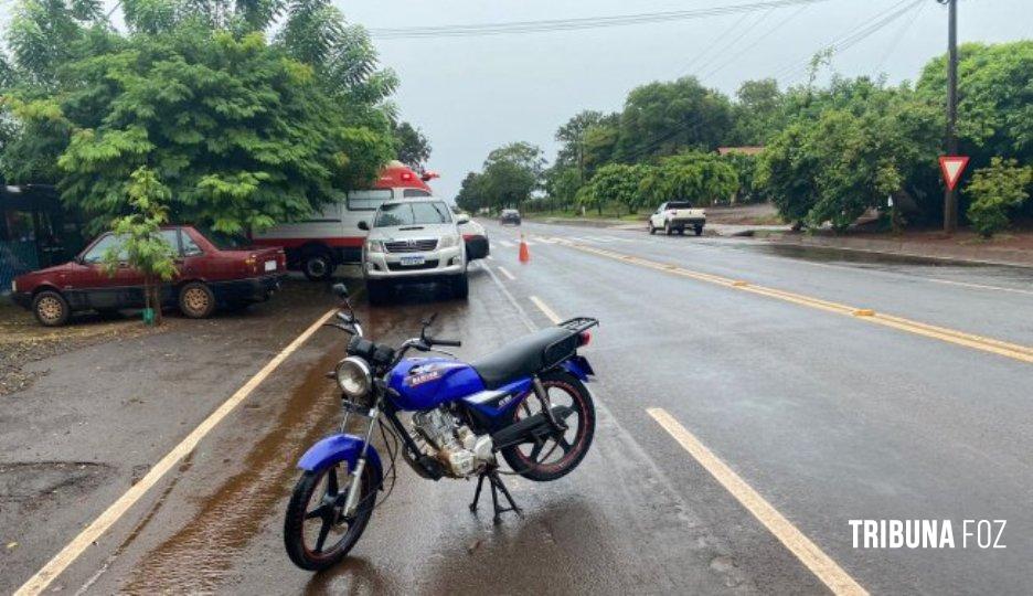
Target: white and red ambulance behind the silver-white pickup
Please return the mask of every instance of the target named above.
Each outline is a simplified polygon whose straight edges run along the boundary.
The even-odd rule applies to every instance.
[[[433,172],[418,174],[401,161],[391,161],[373,187],[341,193],[340,200],[326,205],[310,219],[276,225],[253,238],[259,246],[281,246],[288,266],[301,269],[309,279],[329,279],[338,265],[359,263],[366,232],[359,222],[370,222],[381,203],[388,200],[432,196],[427,184]],[[467,245],[467,258],[488,255],[488,237],[475,222],[460,227]]]

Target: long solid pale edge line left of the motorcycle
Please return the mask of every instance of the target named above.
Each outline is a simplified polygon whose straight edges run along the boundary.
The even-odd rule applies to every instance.
[[[255,376],[252,376],[247,383],[236,391],[228,400],[223,402],[215,412],[212,412],[207,418],[198,425],[187,438],[180,441],[179,445],[172,448],[161,460],[150,469],[147,475],[140,479],[136,485],[132,485],[129,490],[127,490],[117,501],[111,503],[107,510],[102,513],[97,519],[93,521],[85,530],[79,532],[72,542],[70,542],[60,553],[54,555],[43,568],[38,571],[35,575],[29,578],[28,582],[18,588],[18,592],[14,593],[14,596],[34,596],[40,594],[51,582],[57,578],[62,572],[64,572],[68,565],[71,565],[83,551],[89,547],[90,544],[96,542],[104,532],[106,532],[115,522],[117,522],[125,513],[129,510],[141,497],[173,467],[179,465],[180,460],[187,457],[194,448],[201,443],[201,439],[205,437],[223,418],[225,418],[231,412],[233,412],[236,406],[241,404],[248,395],[255,391],[263,381],[268,377],[273,371],[275,371],[280,364],[284,363],[287,358],[292,354],[302,343],[308,340],[312,333],[319,330],[322,323],[327,322],[327,319],[333,316],[336,310],[329,310],[326,315],[321,316],[306,329],[300,336],[295,338],[286,348],[276,354],[273,360],[266,363],[265,366],[258,371]]]

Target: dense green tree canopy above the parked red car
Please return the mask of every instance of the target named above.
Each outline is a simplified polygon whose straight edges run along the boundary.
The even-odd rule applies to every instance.
[[[224,232],[307,216],[395,155],[396,78],[328,1],[23,0],[0,168],[58,184],[94,231],[130,209],[147,167],[175,221]],[[41,49],[51,47],[51,55]]]

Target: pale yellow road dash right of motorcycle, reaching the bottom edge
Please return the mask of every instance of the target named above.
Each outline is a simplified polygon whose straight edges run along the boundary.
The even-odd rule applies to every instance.
[[[796,525],[771,507],[756,490],[732,468],[715,456],[700,440],[661,407],[646,408],[657,423],[689,451],[703,468],[714,477],[754,518],[781,542],[811,573],[837,595],[866,595],[853,577],[839,566],[817,544],[811,542]]]

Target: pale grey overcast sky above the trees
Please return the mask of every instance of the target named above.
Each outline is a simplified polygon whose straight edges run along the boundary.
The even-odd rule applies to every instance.
[[[350,21],[377,29],[622,15],[752,0],[336,1]],[[816,50],[899,1],[829,0],[745,20],[731,14],[587,31],[375,42],[384,65],[402,79],[395,96],[402,117],[430,138],[430,167],[441,174],[435,192],[451,199],[489,150],[526,140],[552,159],[556,127],[582,109],[620,109],[637,85],[695,74],[731,95],[743,81],[796,65],[802,78]],[[1031,38],[1033,0],[961,0],[958,22],[961,41]],[[946,7],[926,0],[917,18],[905,14],[835,55],[832,66],[850,76],[875,71],[892,82],[914,79],[928,58],[945,51],[946,35]]]

